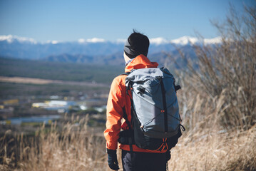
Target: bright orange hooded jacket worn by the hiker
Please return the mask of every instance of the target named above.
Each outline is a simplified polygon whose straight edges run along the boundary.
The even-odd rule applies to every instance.
[[[126,66],[126,73],[130,72],[133,69],[140,68],[156,68],[158,67],[158,63],[150,62],[149,59],[143,55],[139,55],[133,59]],[[123,110],[122,108],[126,108],[126,113],[128,116],[128,120],[130,122],[130,98],[126,94],[126,75],[117,76],[114,78],[111,84],[111,90],[108,95],[108,104],[107,104],[107,121],[106,121],[106,130],[104,131],[104,136],[106,138],[106,147],[111,150],[116,150],[118,147],[118,138],[121,128],[123,130],[128,129],[128,125],[126,124],[123,118]],[[123,119],[123,120],[122,120]],[[120,145],[119,146],[123,150],[130,150],[129,145]],[[133,145],[133,151],[137,152],[159,152],[152,150],[145,150]],[[161,152],[166,152],[163,150]]]

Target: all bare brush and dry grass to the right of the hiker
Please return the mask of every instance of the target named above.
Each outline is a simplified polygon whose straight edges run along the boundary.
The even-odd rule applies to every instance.
[[[245,10],[215,23],[221,45],[195,46],[178,94],[188,132],[169,170],[256,170],[256,8]]]

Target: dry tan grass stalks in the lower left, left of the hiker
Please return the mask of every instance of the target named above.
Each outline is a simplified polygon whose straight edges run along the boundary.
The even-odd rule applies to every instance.
[[[79,120],[79,118],[76,118]],[[73,119],[74,121],[74,119]],[[56,130],[56,124],[50,130],[42,127],[35,138],[29,143],[23,135],[17,136],[18,145],[14,146],[19,157],[14,165],[15,155],[2,157],[2,168],[18,170],[104,170],[106,168],[105,141],[88,131],[87,118],[79,123],[71,122],[63,126],[61,133]],[[8,142],[3,145],[5,149]],[[8,166],[8,167],[7,167]],[[0,169],[1,169],[0,167]]]

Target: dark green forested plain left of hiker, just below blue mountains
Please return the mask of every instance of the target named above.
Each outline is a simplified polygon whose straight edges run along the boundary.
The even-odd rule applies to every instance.
[[[111,83],[124,66],[96,66],[79,63],[29,61],[0,58],[0,76],[19,76],[62,81]]]

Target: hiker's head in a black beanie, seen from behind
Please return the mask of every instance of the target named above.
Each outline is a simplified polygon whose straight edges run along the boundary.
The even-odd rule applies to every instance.
[[[129,58],[135,58],[136,56],[143,54],[148,55],[149,39],[142,33],[138,33],[133,30],[133,33],[128,37],[124,52]]]

